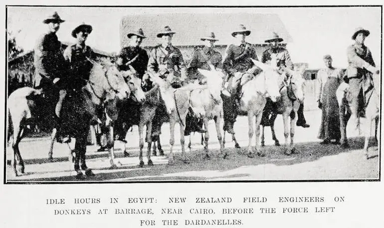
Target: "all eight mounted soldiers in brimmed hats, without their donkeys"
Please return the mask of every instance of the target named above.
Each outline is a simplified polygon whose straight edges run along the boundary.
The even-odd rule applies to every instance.
[[[48,26],[48,32],[38,39],[34,56],[36,69],[34,87],[42,89],[45,99],[48,101],[47,104],[50,105],[47,109],[52,111],[52,114],[54,114],[53,117],[57,119],[56,122],[58,124],[60,124],[60,110],[63,100],[68,94],[76,93],[79,88],[87,83],[92,68],[92,64],[88,61],[88,58],[94,58],[92,49],[86,45],[87,37],[92,32],[92,26],[84,23],[74,28],[71,33],[72,37],[76,39],[76,44],[68,46],[64,52],[61,51],[61,43],[56,36],[56,32],[63,22],[64,20],[60,18],[57,12],[54,12],[43,20],[43,23]],[[254,71],[252,69],[254,63],[251,59],[258,60],[258,57],[254,47],[246,42],[246,37],[250,33],[251,31],[246,29],[244,25],[239,25],[237,29],[234,29],[231,33],[234,42],[227,46],[225,54],[222,57],[214,48],[214,43],[218,39],[215,37],[214,32],[210,32],[206,36],[201,37],[204,46],[196,49],[192,54],[191,62],[186,64],[181,51],[172,44],[172,38],[176,35],[176,32],[169,26],[165,26],[157,33],[160,44],[155,46],[150,53],[147,53],[146,50],[141,48],[143,39],[147,37],[143,29],[140,28],[127,33],[129,39],[128,46],[121,49],[115,60],[115,64],[120,71],[127,71],[134,68],[137,72],[136,76],[142,79],[143,90],[148,90],[152,83],[146,75],[147,71],[156,73],[162,78],[167,78],[174,88],[178,88],[184,85],[184,83],[202,84],[204,78],[197,69],[210,70],[213,66],[216,70],[222,70],[226,74],[221,95],[224,114],[223,130],[234,134],[233,123],[238,115],[237,106],[239,94],[237,93],[237,88],[232,88],[232,84],[229,82],[231,80],[238,80],[234,74],[236,72],[254,75],[259,73],[258,70]],[[360,33],[367,36],[366,30],[361,30]],[[274,55],[277,59],[276,68],[284,67],[293,70],[294,65],[288,50],[279,45],[282,41],[283,39],[276,33],[273,33],[269,39],[265,40],[265,42],[269,44],[269,47],[263,52],[261,62],[268,64],[271,56]],[[355,52],[362,61],[368,61],[366,57],[369,55],[369,49],[366,48],[364,44],[363,46],[352,46],[350,49],[349,52]],[[354,74],[356,76],[352,75],[353,72],[350,72],[352,70],[348,72],[349,76],[351,76],[351,82],[353,82],[352,85],[354,85],[353,90],[356,90],[357,94],[360,93],[357,87],[360,86],[361,88],[361,85],[359,84],[360,82],[355,83],[354,81],[360,80],[361,72],[359,69],[364,67],[364,64],[374,66],[374,64],[369,63],[369,61],[367,63],[365,62],[362,63],[363,66],[360,66],[362,64],[356,65],[355,63],[350,63],[350,65],[356,65],[355,68],[357,69]],[[184,77],[184,75],[186,77]],[[60,80],[57,81],[56,78]],[[58,99],[57,91],[59,91]],[[117,139],[119,140],[124,140],[126,135],[127,129],[124,129],[122,126],[127,115],[127,109],[128,107],[125,107],[125,109],[122,108],[120,110],[121,117],[118,118],[115,124]],[[268,101],[263,112],[263,125],[268,125],[268,117],[272,109],[273,104],[271,101]],[[355,113],[356,112],[357,111],[355,111]],[[300,105],[296,124],[302,127],[309,127],[304,118],[303,104]],[[205,131],[202,129],[198,120],[192,120],[192,128],[199,132]],[[156,134],[160,134],[160,129],[161,122],[158,124],[154,122],[153,132],[155,132],[155,136]],[[60,133],[60,131],[58,131],[58,133]],[[66,140],[64,133],[61,136]]]

